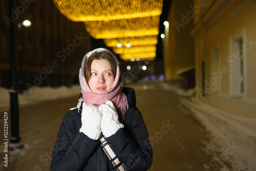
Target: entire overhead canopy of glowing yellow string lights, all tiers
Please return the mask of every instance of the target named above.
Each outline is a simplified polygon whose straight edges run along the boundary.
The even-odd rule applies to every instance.
[[[105,45],[112,47],[114,53],[120,54],[123,60],[137,57],[140,60],[155,59],[163,0],[53,2],[70,20],[84,22],[84,27],[92,37],[103,39]]]

